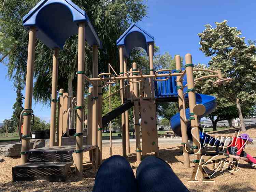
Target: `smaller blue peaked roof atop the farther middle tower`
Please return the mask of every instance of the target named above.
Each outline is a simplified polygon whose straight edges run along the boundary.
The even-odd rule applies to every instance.
[[[148,43],[154,43],[155,38],[144,29],[133,23],[116,41],[117,46],[124,46],[124,56],[129,57],[131,50],[141,47],[148,51]],[[154,54],[154,53],[153,53]]]

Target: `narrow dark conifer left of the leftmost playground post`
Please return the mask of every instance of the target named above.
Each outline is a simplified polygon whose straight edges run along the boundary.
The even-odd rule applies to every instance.
[[[23,94],[22,94],[22,90],[23,90],[23,85],[22,85],[22,79],[20,77],[16,77],[16,80],[14,82],[14,86],[16,88],[16,102],[13,104],[13,115],[11,118],[13,127],[15,128],[15,130],[18,130],[19,127],[19,116],[20,113],[22,112],[23,108]]]

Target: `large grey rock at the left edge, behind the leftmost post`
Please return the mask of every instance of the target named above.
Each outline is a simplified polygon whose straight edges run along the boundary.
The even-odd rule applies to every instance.
[[[4,157],[20,157],[21,143],[0,145],[0,156]],[[29,148],[33,148],[33,143],[29,144]]]

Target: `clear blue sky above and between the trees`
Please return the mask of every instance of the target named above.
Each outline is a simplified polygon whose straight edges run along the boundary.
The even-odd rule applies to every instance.
[[[256,40],[256,1],[148,0],[147,5],[148,15],[138,24],[155,37],[161,53],[167,51],[173,56],[180,54],[183,57],[190,53],[194,63],[207,63],[210,58],[206,58],[199,50],[197,33],[204,30],[205,24],[215,27],[215,21],[221,22],[225,19],[230,27],[237,27],[242,31],[246,41]],[[6,74],[6,67],[0,64],[0,123],[11,118],[16,99],[13,82],[5,78]],[[32,108],[35,115],[49,121],[50,109],[47,106],[33,103]]]

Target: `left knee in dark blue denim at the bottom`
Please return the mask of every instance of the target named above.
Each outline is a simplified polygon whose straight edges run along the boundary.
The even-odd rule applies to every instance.
[[[136,192],[136,180],[129,162],[122,156],[105,160],[95,177],[93,192]]]

